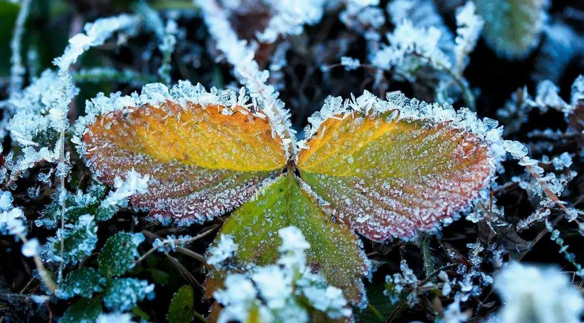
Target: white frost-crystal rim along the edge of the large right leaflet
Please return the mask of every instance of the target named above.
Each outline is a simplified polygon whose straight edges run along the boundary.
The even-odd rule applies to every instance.
[[[376,242],[391,242],[394,238],[402,241],[413,241],[418,238],[419,232],[435,234],[442,230],[443,227],[459,220],[464,214],[468,214],[478,204],[490,199],[491,190],[497,178],[496,173],[502,169],[501,162],[506,156],[502,139],[503,126],[499,126],[497,120],[488,117],[482,120],[478,119],[477,113],[467,107],[455,110],[449,103],[427,103],[415,98],[409,99],[401,91],[388,92],[385,95],[385,100],[383,100],[365,90],[363,95],[357,98],[354,95],[351,95],[350,99],[343,99],[340,96],[328,96],[321,110],[308,117],[309,124],[304,128],[304,139],[297,141],[298,151],[310,149],[307,141],[318,132],[326,120],[339,119],[339,117],[354,117],[355,114],[384,117],[387,122],[424,121],[432,125],[446,123],[450,128],[472,134],[476,140],[486,146],[490,169],[490,173],[485,177],[481,189],[473,192],[473,197],[468,200],[468,203],[455,210],[450,216],[444,216],[437,220],[433,227],[418,229],[410,236],[393,235],[383,239],[365,238]],[[297,158],[295,161],[297,162]],[[307,183],[303,183],[303,187],[310,189],[310,185]],[[316,196],[319,204],[321,204],[321,208],[330,216],[335,217],[334,211],[329,207],[329,203],[321,196],[318,196],[312,189],[310,190],[312,195]]]

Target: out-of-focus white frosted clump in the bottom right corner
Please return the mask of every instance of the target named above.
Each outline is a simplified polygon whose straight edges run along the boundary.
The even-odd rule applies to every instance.
[[[495,276],[503,323],[579,323],[582,293],[555,266],[509,263]]]

